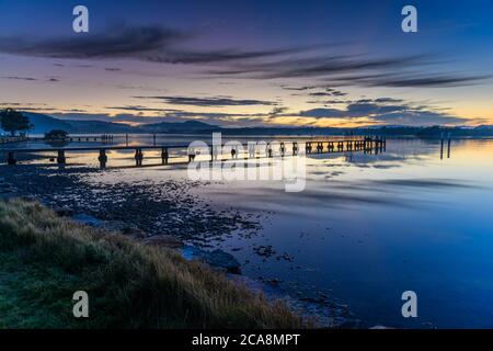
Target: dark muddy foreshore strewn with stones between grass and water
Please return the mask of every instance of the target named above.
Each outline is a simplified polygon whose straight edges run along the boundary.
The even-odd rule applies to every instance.
[[[100,182],[94,181],[99,170],[90,167],[21,165],[2,166],[1,169],[0,199],[36,200],[61,216],[121,231],[149,245],[173,247],[185,258],[200,259],[221,269],[233,281],[263,292],[272,299],[283,298],[322,326],[362,327],[347,308],[326,298],[293,298],[272,282],[238,275],[241,264],[234,257],[211,248],[231,233],[246,237],[255,235],[262,228],[261,218],[234,208],[215,210],[213,204],[191,191],[207,185],[204,182],[186,179],[123,181],[118,177],[122,170],[104,171],[114,181]]]

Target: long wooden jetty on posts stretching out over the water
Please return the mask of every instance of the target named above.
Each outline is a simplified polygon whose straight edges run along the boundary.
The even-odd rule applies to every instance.
[[[341,140],[309,140],[309,141],[280,141],[280,140],[271,140],[263,141],[262,144],[255,143],[246,143],[246,144],[232,144],[232,145],[205,145],[209,150],[210,161],[225,161],[222,156],[225,154],[219,154],[218,149],[222,148],[222,150],[227,149],[230,151],[231,159],[239,158],[240,148],[243,149],[245,157],[243,159],[250,158],[260,158],[260,157],[285,157],[285,156],[296,156],[299,154],[299,144],[305,144],[305,152],[307,155],[311,154],[335,154],[335,152],[353,152],[353,151],[363,151],[365,154],[375,154],[382,152],[386,149],[387,141],[381,137],[364,137],[360,139],[341,139]],[[290,147],[288,147],[290,146]],[[252,147],[254,148],[252,150]],[[195,149],[195,150],[194,150]],[[94,146],[94,147],[65,147],[65,148],[38,148],[38,149],[10,149],[10,150],[0,150],[8,155],[7,163],[10,166],[14,166],[18,163],[15,158],[16,154],[46,154],[46,152],[56,152],[56,161],[58,165],[67,163],[67,152],[83,152],[83,151],[98,151],[101,168],[106,168],[107,163],[107,155],[106,151],[111,150],[134,150],[135,162],[137,167],[144,166],[144,151],[160,151],[161,165],[170,165],[171,151],[176,150],[177,155],[180,151],[185,151],[185,155],[188,156],[188,162],[192,162],[195,159],[195,156],[200,155],[197,152],[199,147],[191,147],[190,145],[162,145],[162,146]],[[183,155],[183,154],[182,154]],[[221,156],[219,158],[219,155]],[[173,162],[177,163],[177,162]],[[156,165],[157,166],[157,165]]]

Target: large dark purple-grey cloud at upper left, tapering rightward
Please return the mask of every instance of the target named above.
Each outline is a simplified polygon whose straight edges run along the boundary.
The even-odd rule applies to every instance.
[[[164,64],[220,64],[299,54],[342,43],[307,45],[275,49],[216,50],[184,49],[196,34],[161,25],[117,26],[87,35],[31,38],[0,37],[0,53],[51,58],[134,58]],[[55,64],[62,67],[62,64]]]

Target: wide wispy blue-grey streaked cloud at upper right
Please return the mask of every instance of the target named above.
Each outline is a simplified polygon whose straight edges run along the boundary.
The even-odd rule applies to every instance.
[[[455,72],[423,73],[440,61],[431,55],[364,58],[362,56],[324,56],[295,58],[270,63],[232,65],[209,70],[211,76],[233,76],[252,79],[310,78],[317,77],[332,87],[406,87],[443,88],[478,84],[491,78],[488,75],[459,75]],[[416,72],[414,69],[420,68]],[[312,90],[320,86],[283,87],[286,90]],[[329,91],[330,92],[330,91]],[[321,95],[322,93],[319,93]]]

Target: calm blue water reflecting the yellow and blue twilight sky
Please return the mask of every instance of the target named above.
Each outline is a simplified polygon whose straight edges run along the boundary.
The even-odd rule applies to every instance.
[[[277,279],[294,297],[324,292],[366,326],[493,328],[493,140],[454,140],[450,158],[439,151],[438,140],[389,139],[381,155],[309,156],[303,192],[287,193],[279,181],[213,182],[196,192],[218,208],[264,218],[251,238],[216,244],[250,278]],[[108,163],[131,158],[117,152]],[[118,174],[131,181],[186,172]],[[259,246],[276,254],[259,256]],[[283,254],[293,260],[276,258]],[[408,290],[417,293],[415,319],[401,316]]]

